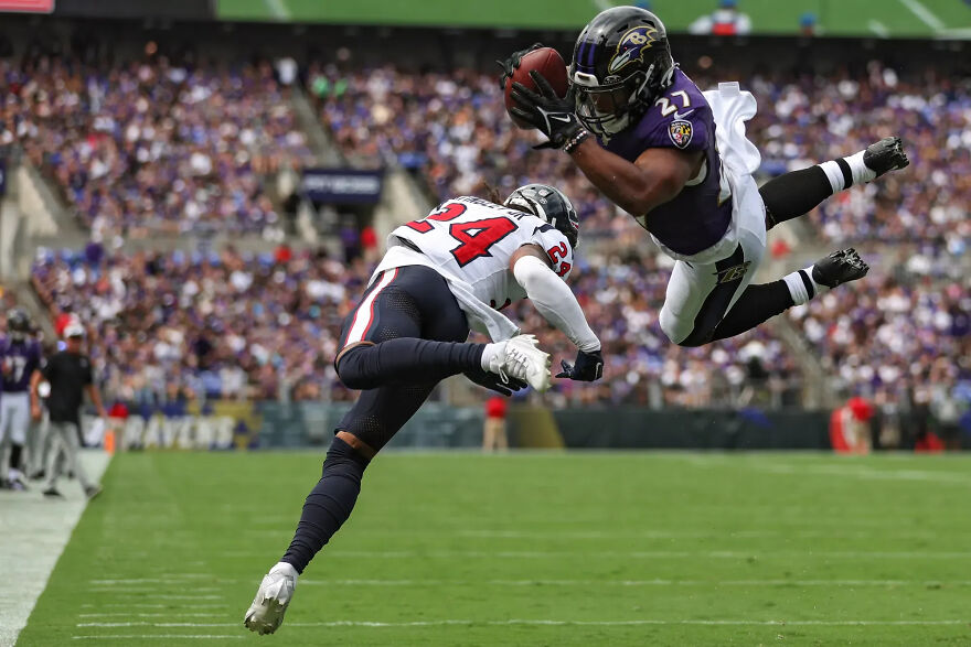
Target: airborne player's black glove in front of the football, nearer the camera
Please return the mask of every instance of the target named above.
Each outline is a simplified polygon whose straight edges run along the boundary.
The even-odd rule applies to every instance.
[[[574,90],[570,86],[565,97],[559,97],[549,82],[537,71],[532,71],[530,77],[536,84],[538,91],[533,91],[521,83],[512,84],[512,99],[516,107],[510,109],[510,114],[522,121],[536,128],[549,138],[537,149],[562,149],[566,143],[579,134],[584,127],[574,112]]]

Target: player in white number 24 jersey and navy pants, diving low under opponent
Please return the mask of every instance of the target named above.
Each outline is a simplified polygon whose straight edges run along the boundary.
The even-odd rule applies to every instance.
[[[499,310],[530,299],[577,346],[556,377],[602,375],[600,341],[564,282],[574,265],[579,220],[569,200],[543,184],[503,204],[447,201],[392,231],[388,251],[348,315],[339,377],[361,396],[335,430],[323,474],[307,496],[289,549],[263,579],[244,624],[271,634],[284,619],[297,575],[351,514],[371,459],[451,375],[510,395],[549,387],[549,356]],[[470,328],[493,339],[465,343]]]

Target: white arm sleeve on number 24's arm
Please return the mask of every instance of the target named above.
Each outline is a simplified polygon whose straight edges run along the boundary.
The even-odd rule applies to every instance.
[[[563,331],[585,353],[600,349],[600,339],[590,330],[580,304],[569,287],[535,256],[520,258],[513,267],[516,282],[543,317]]]

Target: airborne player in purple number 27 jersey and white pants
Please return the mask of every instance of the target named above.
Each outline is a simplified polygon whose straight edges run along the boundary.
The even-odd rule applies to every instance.
[[[500,63],[503,87],[537,46]],[[570,89],[562,98],[532,72],[536,91],[514,84],[511,112],[548,138],[538,148],[566,152],[676,260],[660,315],[675,344],[737,335],[868,271],[854,249],[844,249],[778,281],[751,284],[766,230],[906,166],[898,138],[759,188],[751,175],[759,152],[745,137],[755,98],[736,83],[701,91],[674,63],[660,19],[636,7],[594,18],[577,39],[568,74]]]

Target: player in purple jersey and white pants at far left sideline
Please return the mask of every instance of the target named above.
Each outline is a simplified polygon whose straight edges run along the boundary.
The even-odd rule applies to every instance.
[[[10,471],[0,461],[0,482],[13,489],[24,489],[21,456],[30,427],[30,384],[41,366],[41,345],[30,337],[30,331],[26,313],[12,310],[7,315],[7,334],[0,338],[0,447],[10,445]]]

